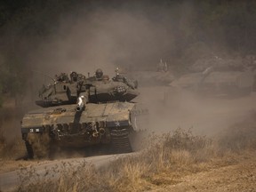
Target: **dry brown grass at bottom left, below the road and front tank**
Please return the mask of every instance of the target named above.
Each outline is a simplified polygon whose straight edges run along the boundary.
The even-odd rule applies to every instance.
[[[31,166],[19,172],[21,185],[17,191],[109,191],[104,180],[99,179],[99,172],[86,162],[72,167],[62,163],[52,169],[45,169],[44,174],[36,173]],[[44,178],[44,179],[43,179]]]

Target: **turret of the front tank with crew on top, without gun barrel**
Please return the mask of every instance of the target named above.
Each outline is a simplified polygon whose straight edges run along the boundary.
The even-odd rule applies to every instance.
[[[43,85],[36,105],[45,108],[75,104],[80,95],[85,95],[87,101],[92,103],[131,101],[139,95],[137,84],[132,84],[126,78],[123,78],[124,81],[115,78],[109,80],[108,76],[102,75],[99,80],[99,74],[97,76],[86,79],[84,75],[72,72],[69,79],[65,73],[61,73],[55,76],[53,84]]]

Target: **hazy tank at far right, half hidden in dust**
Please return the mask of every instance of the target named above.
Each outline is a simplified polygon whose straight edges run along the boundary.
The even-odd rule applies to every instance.
[[[212,62],[192,67],[192,72],[172,81],[170,86],[217,97],[239,97],[252,92],[252,72],[233,60],[216,57]]]

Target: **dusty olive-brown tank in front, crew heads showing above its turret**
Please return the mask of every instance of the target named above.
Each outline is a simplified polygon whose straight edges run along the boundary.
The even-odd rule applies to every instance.
[[[95,76],[62,73],[39,92],[36,105],[22,119],[21,133],[28,158],[49,156],[51,148],[108,145],[115,153],[131,152],[130,137],[145,129],[147,109],[132,102],[137,84],[100,69]]]

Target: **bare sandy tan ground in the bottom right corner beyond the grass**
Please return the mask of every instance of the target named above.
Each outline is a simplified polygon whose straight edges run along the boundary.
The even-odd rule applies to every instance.
[[[185,176],[177,182],[148,191],[256,191],[256,155],[244,156],[238,164]]]

